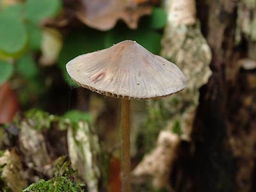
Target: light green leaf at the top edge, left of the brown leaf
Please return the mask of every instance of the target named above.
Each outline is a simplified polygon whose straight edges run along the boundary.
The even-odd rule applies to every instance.
[[[54,17],[61,10],[61,0],[27,0],[25,5],[26,19],[34,23]]]

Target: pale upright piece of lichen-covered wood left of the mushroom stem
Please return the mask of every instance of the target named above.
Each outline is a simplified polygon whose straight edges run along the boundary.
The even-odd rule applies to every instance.
[[[86,122],[79,122],[76,128],[68,127],[67,134],[68,152],[73,163],[72,166],[77,169],[78,175],[88,185],[88,191],[97,192],[100,177],[97,166],[97,157],[100,151],[99,141]]]

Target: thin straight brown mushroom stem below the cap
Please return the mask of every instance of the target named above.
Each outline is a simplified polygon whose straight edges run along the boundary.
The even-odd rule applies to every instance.
[[[122,99],[122,192],[131,192],[130,100]]]

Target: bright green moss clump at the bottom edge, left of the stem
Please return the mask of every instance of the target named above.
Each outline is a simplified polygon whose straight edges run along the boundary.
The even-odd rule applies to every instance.
[[[50,180],[40,180],[38,184],[31,184],[23,192],[80,192],[83,190],[83,184],[74,182],[72,174],[74,170],[71,168],[70,161],[65,161],[65,157],[61,158],[55,166],[54,177]]]

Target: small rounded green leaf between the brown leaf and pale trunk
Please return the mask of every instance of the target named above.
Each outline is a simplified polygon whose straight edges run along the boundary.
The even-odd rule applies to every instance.
[[[167,13],[163,8],[154,8],[149,19],[150,27],[153,29],[164,28],[167,22]]]

